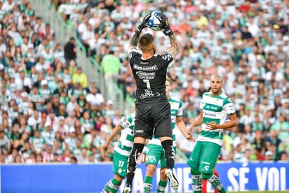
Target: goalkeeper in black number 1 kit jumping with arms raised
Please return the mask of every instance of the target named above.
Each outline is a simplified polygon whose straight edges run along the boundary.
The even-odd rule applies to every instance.
[[[133,177],[138,156],[144,148],[147,138],[152,135],[159,137],[165,150],[167,169],[165,174],[170,180],[173,190],[179,188],[179,183],[172,169],[175,165],[175,151],[172,145],[172,120],[170,117],[170,103],[165,94],[165,79],[168,65],[179,52],[179,45],[170,29],[168,17],[158,14],[163,33],[170,38],[171,47],[163,55],[154,55],[156,45],[151,34],[141,34],[147,27],[151,13],[144,16],[135,34],[131,37],[128,61],[133,71],[137,85],[135,101],[135,131],[133,150],[128,159],[128,172],[124,192],[132,191]],[[139,52],[137,46],[142,53]]]

